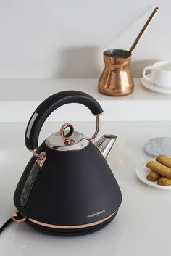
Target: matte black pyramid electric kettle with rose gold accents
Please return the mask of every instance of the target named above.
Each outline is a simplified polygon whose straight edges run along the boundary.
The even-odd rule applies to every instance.
[[[92,138],[62,125],[41,146],[38,135],[46,118],[67,103],[80,103],[96,116]],[[30,117],[25,145],[33,152],[14,192],[17,222],[62,234],[86,234],[107,225],[120,207],[122,194],[106,157],[117,139],[99,132],[103,110],[92,96],[62,91],[42,102]]]

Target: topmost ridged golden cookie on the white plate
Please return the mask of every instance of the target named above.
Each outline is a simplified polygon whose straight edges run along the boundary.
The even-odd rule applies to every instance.
[[[150,168],[151,170],[154,170],[154,172],[160,174],[161,176],[171,179],[171,169],[162,165],[159,162],[151,160],[147,162],[146,167]]]

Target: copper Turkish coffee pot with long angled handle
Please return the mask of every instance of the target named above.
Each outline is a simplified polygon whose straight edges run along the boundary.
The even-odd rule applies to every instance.
[[[154,15],[156,15],[158,9],[159,8],[156,7],[151,13],[149,19],[146,21],[146,24],[143,26],[129,51],[122,49],[104,51],[105,67],[98,83],[101,94],[125,96],[133,92],[133,76],[130,73],[132,51],[138,44],[141,36],[143,36],[143,33],[149,26]]]

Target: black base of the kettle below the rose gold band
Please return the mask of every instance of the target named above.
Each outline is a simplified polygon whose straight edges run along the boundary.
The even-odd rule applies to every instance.
[[[114,215],[112,215],[111,218],[104,221],[103,223],[100,223],[96,226],[91,226],[88,228],[75,228],[75,229],[60,229],[60,228],[48,228],[45,226],[38,225],[36,223],[33,223],[31,221],[27,221],[28,225],[32,228],[36,229],[37,231],[43,231],[45,233],[56,235],[56,236],[83,236],[86,234],[91,234],[95,231],[99,231],[101,228],[104,228],[107,226],[117,215],[117,211],[114,212]]]

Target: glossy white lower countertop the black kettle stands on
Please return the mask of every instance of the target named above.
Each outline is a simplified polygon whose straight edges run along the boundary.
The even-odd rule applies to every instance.
[[[75,123],[90,136],[95,123]],[[14,189],[31,157],[25,148],[26,123],[0,124],[0,226],[16,209]],[[59,130],[59,123],[46,123],[41,140]],[[171,122],[105,122],[102,133],[118,136],[108,163],[122,190],[120,210],[107,227],[78,237],[51,236],[26,223],[11,223],[0,235],[1,256],[160,256],[170,255],[171,191],[147,186],[135,176],[135,168],[149,157],[145,142],[170,136]]]

